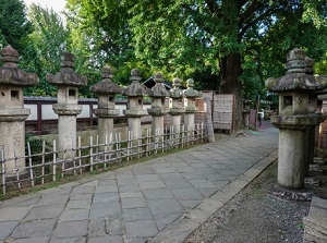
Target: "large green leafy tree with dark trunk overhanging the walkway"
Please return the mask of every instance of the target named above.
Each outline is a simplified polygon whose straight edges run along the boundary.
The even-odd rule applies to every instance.
[[[97,29],[94,36],[100,41],[93,37],[90,44],[99,47],[97,51],[101,50],[102,56],[112,56],[111,62],[113,57],[121,60],[119,63],[136,58],[152,69],[183,78],[191,74],[201,77],[202,87],[235,94],[237,126],[242,121],[242,87],[250,93],[256,90],[255,86],[263,89],[265,77],[283,72],[286,52],[291,48],[305,48],[312,53],[325,49],[320,56],[326,52],[325,45],[318,48],[313,40],[326,29],[327,5],[319,0],[69,3],[78,12],[77,25]]]

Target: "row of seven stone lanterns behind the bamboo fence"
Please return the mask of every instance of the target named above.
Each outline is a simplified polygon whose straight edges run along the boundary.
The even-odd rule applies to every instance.
[[[25,123],[29,109],[24,108],[23,87],[36,86],[39,78],[35,74],[26,73],[17,68],[19,53],[11,46],[1,51],[3,66],[0,69],[0,151],[4,151],[4,158],[22,157],[25,155]],[[57,74],[48,74],[47,81],[58,86],[58,102],[52,106],[58,114],[58,149],[66,150],[65,158],[74,156],[73,148],[76,147],[76,116],[81,113],[82,106],[77,104],[78,87],[87,85],[87,78],[74,72],[74,56],[64,52],[62,56],[61,71]],[[98,95],[98,108],[95,116],[98,118],[99,142],[105,143],[106,134],[113,131],[113,118],[119,114],[114,109],[114,95],[128,96],[128,109],[124,116],[129,120],[129,129],[132,138],[141,137],[141,118],[147,113],[153,116],[153,130],[164,127],[164,116],[171,113],[172,125],[180,126],[181,114],[185,111],[185,126],[193,129],[195,98],[201,93],[193,89],[193,81],[187,81],[187,89],[184,93],[179,88],[180,80],[174,78],[174,88],[169,93],[164,86],[164,76],[155,75],[156,85],[146,90],[141,84],[141,72],[137,69],[131,71],[131,85],[126,88],[120,87],[112,82],[112,73],[109,66],[105,66],[101,81],[90,87]],[[143,97],[152,98],[152,108],[143,109]],[[166,97],[171,96],[170,109],[165,106]],[[182,107],[182,98],[185,99],[185,109]],[[192,125],[192,127],[191,127]],[[161,130],[159,130],[161,132]],[[5,139],[4,139],[5,137]],[[1,149],[2,148],[2,149]],[[1,156],[1,155],[0,155]],[[15,173],[19,168],[25,167],[24,159],[16,159],[5,163],[9,174]],[[24,171],[19,171],[20,177]]]

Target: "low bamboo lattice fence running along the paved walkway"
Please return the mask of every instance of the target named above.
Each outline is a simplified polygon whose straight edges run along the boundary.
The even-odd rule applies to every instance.
[[[206,141],[206,127],[201,123],[195,124],[192,131],[185,131],[184,125],[166,126],[161,131],[157,129],[153,135],[152,130],[146,130],[145,136],[140,138],[132,137],[131,132],[125,139],[121,138],[120,133],[110,133],[106,134],[104,143],[99,143],[98,136],[90,136],[86,146],[82,145],[78,137],[75,148],[64,150],[57,149],[56,141],[51,145],[41,141],[38,146],[40,151],[34,153],[33,142],[28,142],[27,155],[23,157],[16,157],[14,153],[12,158],[4,158],[4,150],[0,148],[2,193],[5,194],[11,189],[21,190],[23,186],[56,182],[68,174],[77,175],[85,171],[106,170],[112,163],[148,157]],[[25,160],[25,167],[19,166],[20,160]],[[15,167],[7,170],[7,163],[10,161],[14,161]]]

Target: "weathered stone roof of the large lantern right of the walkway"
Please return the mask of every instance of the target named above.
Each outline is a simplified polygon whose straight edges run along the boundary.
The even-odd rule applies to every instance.
[[[269,77],[266,87],[276,93],[317,92],[324,89],[326,82],[318,82],[313,75],[314,60],[305,57],[305,51],[293,49],[287,56],[287,73],[277,80]]]

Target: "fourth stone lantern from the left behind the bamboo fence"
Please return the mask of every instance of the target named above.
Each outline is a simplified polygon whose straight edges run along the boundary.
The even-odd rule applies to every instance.
[[[123,90],[123,95],[128,96],[128,109],[123,112],[129,119],[129,130],[132,131],[133,139],[138,139],[142,136],[141,118],[147,116],[147,111],[143,109],[143,96],[147,93],[140,84],[142,78],[138,69],[131,71],[130,80],[132,84]]]

